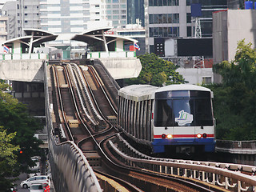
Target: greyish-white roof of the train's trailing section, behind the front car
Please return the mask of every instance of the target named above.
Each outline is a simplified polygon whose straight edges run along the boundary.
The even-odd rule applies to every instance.
[[[157,89],[157,86],[150,85],[125,86],[118,90],[118,95],[122,96],[123,98],[139,102],[154,98],[154,93]]]

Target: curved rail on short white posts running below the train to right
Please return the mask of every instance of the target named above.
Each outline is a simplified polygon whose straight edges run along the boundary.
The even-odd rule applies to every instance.
[[[120,138],[120,141],[122,138]],[[139,153],[124,140],[118,145],[125,145],[127,152],[124,153],[109,142],[108,145],[114,150],[117,158],[126,161],[130,166],[138,166],[145,171],[153,170],[159,173],[174,174],[185,178],[194,178],[198,181],[208,182],[212,185],[222,186],[232,191],[255,191],[256,173],[255,166],[236,165],[232,163],[198,162],[190,160],[153,158]],[[125,150],[126,151],[126,150]],[[129,151],[133,151],[130,153]],[[136,157],[127,154],[135,154]],[[246,171],[248,174],[242,174]]]

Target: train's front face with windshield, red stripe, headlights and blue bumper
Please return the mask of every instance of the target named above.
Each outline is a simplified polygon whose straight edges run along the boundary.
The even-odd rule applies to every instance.
[[[154,153],[213,152],[212,92],[202,86],[158,89],[154,105]]]

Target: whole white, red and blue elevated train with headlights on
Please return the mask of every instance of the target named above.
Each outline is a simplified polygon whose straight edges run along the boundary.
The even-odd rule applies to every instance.
[[[155,154],[214,152],[210,89],[188,84],[132,85],[118,95],[118,126],[133,142]]]

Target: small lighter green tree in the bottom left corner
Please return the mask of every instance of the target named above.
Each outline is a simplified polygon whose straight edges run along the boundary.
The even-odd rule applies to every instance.
[[[11,182],[14,179],[14,167],[17,163],[17,155],[15,151],[19,150],[19,146],[14,146],[10,142],[14,139],[16,133],[6,134],[6,130],[0,127],[0,186],[1,191],[8,191]]]

